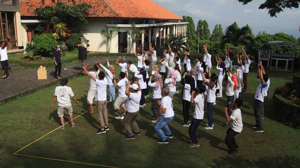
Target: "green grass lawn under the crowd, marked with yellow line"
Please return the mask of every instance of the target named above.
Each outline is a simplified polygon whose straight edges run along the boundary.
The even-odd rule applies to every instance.
[[[118,74],[119,68],[115,68]],[[212,69],[216,71],[215,68]],[[137,117],[141,134],[133,140],[124,140],[125,130],[121,120],[114,119],[117,113],[112,104],[108,104],[109,131],[96,134],[99,128],[97,115],[83,114],[74,120],[75,127],[69,124],[65,130],[57,129],[35,143],[29,145],[19,154],[71,160],[115,167],[300,167],[300,132],[283,125],[269,117],[272,99],[265,100],[264,132],[256,133],[251,128],[254,124],[253,97],[258,85],[256,69],[251,69],[248,76],[249,89],[241,93],[244,100],[241,107],[243,130],[236,135],[238,152],[228,155],[224,142],[229,125],[221,109],[226,104],[225,92],[217,98],[213,106],[214,129],[205,130],[204,116],[198,128],[200,147],[188,147],[188,127],[182,127],[182,97],[176,94],[173,99],[175,107],[174,120],[169,127],[173,138],[168,144],[158,144],[158,135],[150,106],[151,98],[146,99],[146,107],[140,108]],[[267,70],[271,81],[271,95],[276,86],[291,81],[290,72]],[[88,77],[79,76],[69,80],[68,86],[80,101],[72,101],[74,117],[88,110],[86,94]],[[47,132],[59,126],[55,103],[51,100],[55,86],[19,97],[0,106],[0,167],[92,167],[91,165],[61,162],[41,158],[12,155],[15,151]],[[96,112],[97,110],[95,110]],[[193,105],[190,117],[192,117]],[[65,117],[68,121],[68,117]]]

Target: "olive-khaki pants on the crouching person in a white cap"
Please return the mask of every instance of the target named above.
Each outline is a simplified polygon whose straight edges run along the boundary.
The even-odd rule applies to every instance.
[[[131,131],[130,125],[133,128],[133,131],[139,132],[139,128],[137,126],[137,123],[135,122],[135,118],[137,117],[139,111],[136,112],[126,112],[124,115],[124,119],[123,119],[123,127],[126,130],[126,132],[128,133],[128,136],[133,136],[133,133]]]

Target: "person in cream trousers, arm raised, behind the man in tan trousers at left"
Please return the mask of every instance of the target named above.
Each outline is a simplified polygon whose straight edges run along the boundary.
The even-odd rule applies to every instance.
[[[96,62],[97,64],[97,62]],[[89,71],[89,73],[94,76],[95,78],[97,78],[98,74],[99,74],[99,69],[97,67],[97,65],[94,64],[93,66],[93,71]],[[85,64],[84,65],[85,68],[87,68],[89,66],[89,64]],[[82,74],[86,74],[84,70],[82,70]],[[87,103],[89,104],[89,111],[90,113],[93,113],[93,108],[92,108],[92,102],[93,102],[93,99],[97,99],[97,88],[96,88],[96,82],[89,78],[89,90],[87,92]]]

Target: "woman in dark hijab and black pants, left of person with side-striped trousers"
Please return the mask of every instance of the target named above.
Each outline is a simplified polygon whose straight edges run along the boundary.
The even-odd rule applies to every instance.
[[[190,107],[190,97],[191,92],[195,88],[195,82],[192,76],[187,75],[187,72],[184,72],[183,78],[181,80],[183,85],[183,97],[182,97],[182,110],[183,110],[183,124],[181,126],[189,126],[189,107]]]

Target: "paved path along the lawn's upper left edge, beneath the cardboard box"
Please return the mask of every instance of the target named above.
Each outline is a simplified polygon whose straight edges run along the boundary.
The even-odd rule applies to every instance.
[[[105,62],[108,58],[109,62],[114,62],[116,57],[95,57],[86,59],[83,64],[94,64],[96,60],[101,63]],[[136,61],[135,57],[127,57],[127,60]],[[74,77],[81,73],[81,62],[75,62],[61,67],[61,76]],[[24,69],[16,72],[11,72],[9,78],[0,79],[0,104],[16,99],[21,95],[26,95],[37,90],[49,87],[60,80],[54,79],[54,68],[47,69],[47,79],[37,80],[36,69]],[[64,68],[67,68],[64,70]],[[92,68],[92,66],[90,66]]]

